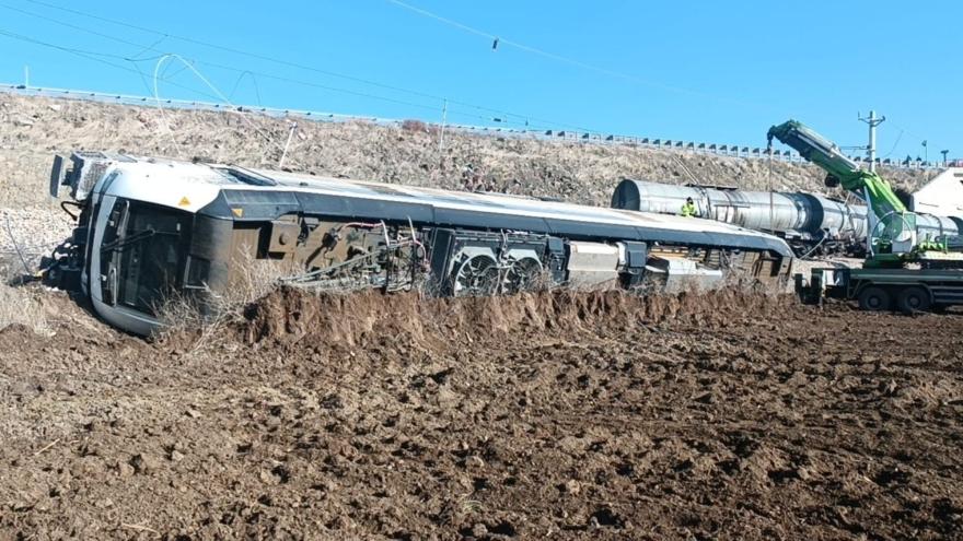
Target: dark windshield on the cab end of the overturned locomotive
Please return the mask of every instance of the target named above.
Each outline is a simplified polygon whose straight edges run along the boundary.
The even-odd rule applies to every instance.
[[[153,314],[181,285],[189,219],[183,211],[130,202],[124,234],[114,248],[119,304]]]

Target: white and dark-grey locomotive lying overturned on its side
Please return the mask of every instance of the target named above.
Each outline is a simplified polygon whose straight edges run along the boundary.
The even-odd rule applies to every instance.
[[[121,154],[55,160],[80,212],[50,273],[147,334],[172,292],[231,287],[247,258],[316,287],[489,295],[648,279],[789,277],[774,236],[708,220]]]

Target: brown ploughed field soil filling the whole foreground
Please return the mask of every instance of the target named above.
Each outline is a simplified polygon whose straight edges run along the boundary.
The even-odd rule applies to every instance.
[[[963,316],[314,297],[0,331],[0,539],[963,536]]]

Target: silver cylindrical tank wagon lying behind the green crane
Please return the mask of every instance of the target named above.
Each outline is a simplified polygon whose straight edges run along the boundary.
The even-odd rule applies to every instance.
[[[770,232],[792,247],[798,256],[846,254],[866,250],[867,208],[815,193],[747,191],[710,186],[675,186],[625,179],[615,188],[612,207],[660,214],[677,214],[692,198],[701,217],[741,227]],[[963,220],[917,214],[920,239],[955,237]]]

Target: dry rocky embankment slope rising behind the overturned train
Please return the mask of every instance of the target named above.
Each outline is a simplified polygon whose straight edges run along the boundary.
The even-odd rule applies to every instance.
[[[204,157],[246,166],[277,166],[290,119],[236,111],[111,105],[0,94],[0,226],[44,245],[66,225],[47,197],[54,153],[108,150]],[[759,133],[764,132],[763,127]],[[625,177],[766,189],[765,160],[655,150],[626,144],[544,141],[449,131],[439,150],[437,128],[418,121],[300,120],[286,167],[340,177],[443,188],[474,187],[607,205]],[[897,186],[919,185],[925,172],[892,169]],[[805,164],[771,164],[779,190],[814,190],[823,173]],[[5,233],[5,232],[4,232]],[[0,251],[10,249],[0,234]],[[26,244],[26,240],[24,240]]]

